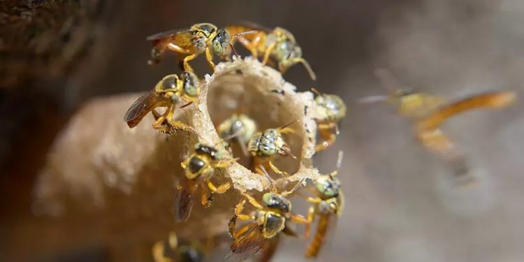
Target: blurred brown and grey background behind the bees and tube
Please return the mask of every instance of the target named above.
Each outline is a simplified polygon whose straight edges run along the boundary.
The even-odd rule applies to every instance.
[[[412,126],[392,108],[356,103],[384,94],[376,68],[451,100],[501,89],[522,96],[523,15],[518,0],[2,1],[0,259],[115,259],[96,241],[67,252],[46,244],[89,238],[73,230],[60,235],[35,222],[33,187],[46,152],[82,103],[145,91],[179,72],[167,58],[147,66],[145,36],[197,22],[220,27],[248,20],[293,32],[318,78],[312,82],[293,66],[286,80],[300,91],[339,94],[349,107],[337,144],[314,159],[327,173],[335,168],[337,150],[345,152],[340,179],[346,210],[319,260],[523,261],[520,101],[446,124],[480,177],[465,188],[454,186],[446,166],[421,147]],[[205,60],[197,60],[196,70],[210,73]],[[304,244],[284,242],[275,261],[305,260]]]

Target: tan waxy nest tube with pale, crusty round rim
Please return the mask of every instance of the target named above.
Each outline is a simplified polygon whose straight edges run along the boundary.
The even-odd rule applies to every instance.
[[[154,83],[152,83],[154,86]],[[179,131],[171,136],[152,129],[147,115],[136,128],[129,129],[122,116],[140,94],[124,94],[87,103],[73,116],[50,150],[35,187],[34,211],[54,217],[91,210],[108,217],[150,217],[158,234],[173,229],[172,201],[175,184],[184,178],[182,162],[194,145],[221,145],[215,126],[234,113],[249,115],[258,130],[291,124],[295,133],[285,135],[292,157],[276,157],[275,166],[287,177],[273,176],[277,187],[291,187],[296,181],[316,179],[312,167],[319,117],[312,92],[296,92],[274,69],[256,59],[234,59],[220,63],[213,75],[201,80],[198,103],[177,108],[176,119],[196,131]],[[217,146],[226,158],[240,159],[215,171],[219,180],[233,181],[226,196],[217,196],[212,208],[196,208],[190,221],[207,226],[210,232],[224,232],[238,191],[270,188],[264,175],[252,173],[249,157],[233,150],[231,156]],[[198,206],[198,205],[196,205]],[[212,215],[210,215],[212,214]],[[218,219],[218,220],[217,220]],[[217,223],[219,221],[219,223]],[[115,221],[125,224],[125,221]],[[198,223],[197,223],[198,222]],[[120,226],[124,228],[124,226]],[[182,228],[189,231],[191,222]],[[211,228],[214,228],[211,229]]]

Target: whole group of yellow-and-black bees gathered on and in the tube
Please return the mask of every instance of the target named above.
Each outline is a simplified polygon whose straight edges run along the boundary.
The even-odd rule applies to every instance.
[[[275,66],[284,73],[294,64],[303,64],[310,77],[315,80],[316,75],[312,68],[302,57],[302,50],[296,42],[293,34],[286,29],[276,27],[266,29],[258,25],[231,26],[217,28],[213,24],[194,24],[189,29],[166,31],[149,36],[147,40],[152,41],[153,48],[149,64],[157,64],[161,61],[163,54],[170,50],[179,54],[180,67],[183,73],[180,75],[167,75],[162,78],[154,89],[145,93],[131,105],[124,116],[124,121],[133,128],[150,112],[154,117],[154,129],[162,133],[175,133],[177,131],[194,132],[188,124],[174,119],[175,108],[185,108],[192,103],[198,103],[200,94],[199,79],[189,61],[200,54],[205,54],[209,66],[214,70],[213,57],[221,60],[230,60],[231,54],[236,53],[233,46],[240,43],[253,57],[261,58],[263,64]],[[322,142],[316,145],[315,150],[325,150],[336,140],[339,133],[337,123],[346,115],[346,106],[340,97],[330,94],[316,92],[316,108],[321,117],[316,119],[319,136]],[[157,108],[166,108],[162,113]],[[236,143],[242,148],[242,152],[253,158],[252,171],[259,175],[268,177],[268,173],[278,175],[289,175],[280,170],[273,160],[275,157],[296,158],[288,143],[286,136],[293,133],[293,125],[300,124],[293,121],[272,129],[258,131],[256,121],[248,115],[234,114],[217,126],[217,131],[223,143],[219,145],[206,145],[196,143],[194,152],[182,161],[185,177],[177,184],[174,197],[175,221],[186,221],[191,214],[193,206],[192,196],[197,188],[201,189],[201,203],[209,206],[215,194],[224,194],[231,188],[231,182],[215,184],[212,182],[214,170],[227,168],[238,159],[226,158],[218,150],[218,147],[227,149],[231,143]],[[342,154],[340,154],[340,159]],[[340,161],[339,161],[340,163]],[[340,166],[337,165],[337,166]],[[305,237],[310,236],[310,227],[315,217],[319,217],[316,234],[309,247],[306,256],[315,257],[323,245],[324,235],[328,227],[330,217],[340,215],[343,208],[343,197],[340,189],[340,181],[336,178],[337,171],[327,175],[321,175],[312,181],[311,187],[305,187],[311,196],[303,196],[311,207],[306,216],[291,212],[291,201],[287,198],[299,190],[303,181],[296,184],[293,189],[284,191],[272,183],[270,191],[265,192],[261,199],[257,200],[249,194],[242,194],[242,200],[235,206],[235,212],[228,224],[228,233],[233,238],[231,250],[224,257],[224,261],[242,261],[254,256],[263,249],[270,254],[265,254],[267,259],[272,255],[274,249],[269,248],[278,240],[282,233],[297,236],[290,224],[304,224]],[[249,203],[255,208],[250,214],[244,214],[245,204]],[[248,224],[236,228],[238,220],[248,221]],[[170,235],[168,240],[158,242],[154,245],[153,255],[156,261],[200,261],[202,256],[198,252],[198,245],[179,245],[176,235]],[[194,256],[192,256],[194,255]]]

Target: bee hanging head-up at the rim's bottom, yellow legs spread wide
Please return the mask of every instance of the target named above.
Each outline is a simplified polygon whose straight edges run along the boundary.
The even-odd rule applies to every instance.
[[[273,182],[263,166],[260,168],[257,170],[263,170],[263,173]],[[298,182],[290,191],[280,194],[273,186],[272,191],[263,194],[262,203],[248,194],[243,194],[244,198],[236,205],[235,215],[228,224],[228,232],[233,237],[233,244],[223,261],[242,261],[254,256],[260,249],[270,247],[270,242],[277,240],[280,232],[296,236],[296,233],[288,226],[290,221],[297,224],[309,224],[311,221],[305,217],[291,213],[291,201],[286,198],[296,191],[300,184],[302,181]],[[256,208],[253,215],[242,214],[246,201]],[[237,219],[252,222],[235,231]]]

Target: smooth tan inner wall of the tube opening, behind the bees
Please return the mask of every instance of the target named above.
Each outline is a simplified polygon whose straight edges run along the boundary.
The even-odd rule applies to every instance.
[[[221,75],[214,78],[208,89],[208,110],[215,126],[219,126],[224,120],[233,114],[243,114],[254,120],[256,132],[265,129],[277,128],[284,124],[296,121],[293,119],[293,112],[286,107],[286,103],[279,96],[284,96],[278,86],[268,86],[263,78],[242,73]],[[270,90],[270,92],[267,92]],[[291,156],[277,156],[273,160],[281,170],[293,174],[300,167],[300,151],[303,141],[298,133],[302,132],[303,127],[300,122],[294,122],[289,126],[295,133],[287,133],[284,140],[291,147],[291,154],[296,155],[297,159]],[[247,145],[245,145],[247,147]],[[253,159],[247,152],[245,155],[240,143],[231,143],[233,156],[239,158],[238,163],[249,170],[254,170]]]

